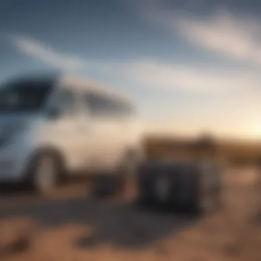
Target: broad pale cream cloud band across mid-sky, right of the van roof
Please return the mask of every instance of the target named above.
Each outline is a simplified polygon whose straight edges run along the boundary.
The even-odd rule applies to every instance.
[[[187,93],[231,93],[260,86],[260,78],[246,71],[215,71],[189,65],[138,60],[128,63],[125,74],[137,84]]]

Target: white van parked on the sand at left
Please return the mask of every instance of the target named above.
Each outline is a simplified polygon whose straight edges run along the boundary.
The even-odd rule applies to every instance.
[[[142,155],[133,104],[79,76],[26,76],[0,89],[0,181],[41,192],[65,174],[112,171]]]

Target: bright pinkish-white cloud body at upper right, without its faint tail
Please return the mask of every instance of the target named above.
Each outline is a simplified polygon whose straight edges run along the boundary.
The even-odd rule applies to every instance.
[[[261,41],[257,37],[257,22],[242,21],[228,12],[218,12],[206,21],[179,19],[175,27],[181,36],[198,46],[261,64]]]

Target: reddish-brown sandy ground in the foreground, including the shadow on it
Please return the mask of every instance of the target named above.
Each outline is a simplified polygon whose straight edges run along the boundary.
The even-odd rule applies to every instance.
[[[261,201],[255,184],[255,170],[227,170],[223,209],[194,219],[141,211],[131,193],[93,201],[84,182],[48,199],[8,189],[0,194],[0,260],[258,261]]]

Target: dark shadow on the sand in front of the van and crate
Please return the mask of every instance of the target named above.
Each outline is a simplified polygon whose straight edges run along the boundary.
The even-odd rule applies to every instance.
[[[117,247],[141,249],[173,234],[194,220],[182,214],[139,209],[135,203],[101,203],[88,196],[73,199],[39,199],[23,205],[0,206],[0,218],[32,218],[41,227],[64,224],[92,227],[93,234],[75,238],[81,249],[108,242]]]

